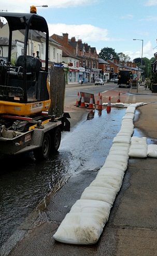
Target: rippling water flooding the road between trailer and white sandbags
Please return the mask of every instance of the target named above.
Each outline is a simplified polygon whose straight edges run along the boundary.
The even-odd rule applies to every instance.
[[[82,109],[81,120],[62,135],[59,152],[37,163],[33,153],[3,160],[1,172],[1,245],[8,243],[25,218],[67,177],[99,169],[104,164],[113,137],[120,129],[123,109]],[[89,119],[90,117],[90,119]],[[98,135],[98,136],[97,136]]]

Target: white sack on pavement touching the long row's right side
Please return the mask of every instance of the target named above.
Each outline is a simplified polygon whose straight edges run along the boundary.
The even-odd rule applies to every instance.
[[[147,138],[132,137],[129,150],[129,157],[132,158],[147,158]]]

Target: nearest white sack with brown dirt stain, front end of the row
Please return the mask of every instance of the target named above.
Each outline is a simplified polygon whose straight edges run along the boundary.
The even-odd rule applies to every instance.
[[[92,212],[69,212],[53,238],[65,244],[95,244],[103,232],[105,222],[105,215]]]

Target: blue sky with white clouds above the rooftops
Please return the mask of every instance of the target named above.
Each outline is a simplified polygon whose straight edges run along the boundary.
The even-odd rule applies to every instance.
[[[68,33],[69,39],[82,39],[97,53],[109,47],[133,61],[141,53],[151,59],[157,52],[157,0],[0,0],[0,4],[0,12],[30,12],[32,5],[48,5],[37,7],[37,14],[46,19],[49,36]]]

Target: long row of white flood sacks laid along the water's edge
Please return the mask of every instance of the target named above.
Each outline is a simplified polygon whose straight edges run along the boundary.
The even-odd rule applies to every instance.
[[[122,119],[121,129],[112,141],[108,157],[96,178],[85,188],[80,200],[65,216],[53,235],[67,244],[95,244],[103,232],[110,209],[119,192],[129,160],[131,137],[134,131],[133,110],[129,105]]]

